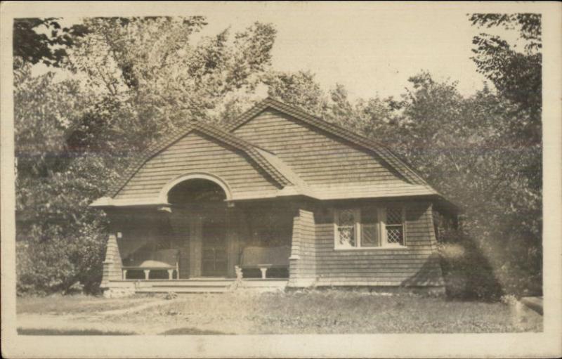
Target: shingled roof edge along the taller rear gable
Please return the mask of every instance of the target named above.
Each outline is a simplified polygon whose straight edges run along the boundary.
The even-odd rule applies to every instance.
[[[381,159],[386,162],[391,168],[396,169],[396,171],[398,171],[400,175],[406,178],[407,181],[410,181],[410,183],[425,185],[428,188],[431,188],[431,185],[429,185],[424,180],[424,178],[421,178],[421,176],[419,176],[416,171],[407,166],[405,162],[399,159],[396,155],[393,154],[393,152],[391,152],[391,150],[388,150],[388,148],[386,148],[381,143],[377,143],[376,141],[373,141],[370,138],[366,138],[365,136],[360,136],[357,133],[344,129],[341,126],[332,124],[331,122],[327,122],[324,119],[320,119],[319,117],[310,115],[297,107],[286,105],[285,103],[277,101],[273,98],[266,98],[254,107],[251,107],[251,109],[249,109],[247,112],[244,112],[242,115],[240,115],[240,117],[228,124],[226,126],[226,130],[229,132],[235,131],[235,129],[242,126],[250,119],[253,119],[257,115],[259,115],[259,113],[267,110],[268,108],[283,112],[287,115],[291,115],[301,122],[332,134],[332,136],[342,138],[348,142],[365,148],[366,150],[370,150],[371,152],[374,152],[379,157],[381,157]],[[433,188],[431,188],[431,190],[433,190]]]

